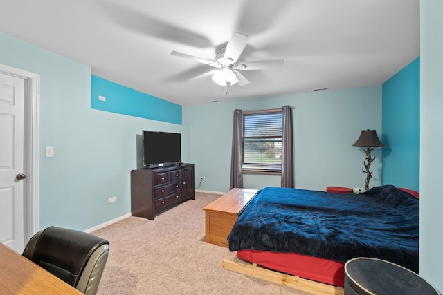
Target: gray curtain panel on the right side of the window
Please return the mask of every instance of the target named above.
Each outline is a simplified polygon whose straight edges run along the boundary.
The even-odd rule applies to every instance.
[[[282,107],[282,187],[294,187],[292,108]]]

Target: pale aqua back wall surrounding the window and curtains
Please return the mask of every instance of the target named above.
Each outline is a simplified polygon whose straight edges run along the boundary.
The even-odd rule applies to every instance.
[[[229,95],[229,94],[228,94]],[[233,111],[293,106],[295,183],[300,189],[327,186],[364,187],[363,149],[351,145],[361,130],[376,129],[381,138],[381,86],[280,95],[183,106],[183,124],[190,130],[191,162],[199,189],[228,191]],[[373,151],[374,178],[381,184],[381,150]],[[280,177],[245,175],[244,187],[280,187]]]

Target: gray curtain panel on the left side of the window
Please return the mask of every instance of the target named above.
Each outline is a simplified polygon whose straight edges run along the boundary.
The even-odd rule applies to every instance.
[[[233,149],[230,160],[230,189],[243,188],[242,173],[242,110],[234,111]]]

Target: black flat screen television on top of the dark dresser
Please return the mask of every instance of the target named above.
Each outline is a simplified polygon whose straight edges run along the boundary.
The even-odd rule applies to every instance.
[[[157,168],[181,163],[181,134],[142,131],[143,166]]]

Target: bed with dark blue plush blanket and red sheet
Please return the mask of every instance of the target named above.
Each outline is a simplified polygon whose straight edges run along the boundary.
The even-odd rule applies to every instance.
[[[242,260],[341,287],[345,262],[359,256],[418,272],[419,199],[393,186],[361,194],[266,187],[228,243]]]

